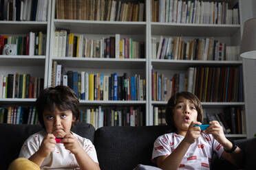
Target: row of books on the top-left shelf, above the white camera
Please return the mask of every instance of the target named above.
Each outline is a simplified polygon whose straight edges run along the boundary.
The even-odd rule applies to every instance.
[[[47,21],[48,0],[0,0],[0,21]]]

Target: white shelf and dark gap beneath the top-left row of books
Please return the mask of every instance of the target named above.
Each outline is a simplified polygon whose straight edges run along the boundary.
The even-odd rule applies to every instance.
[[[0,21],[0,25],[0,34],[47,31],[47,22],[43,21]]]

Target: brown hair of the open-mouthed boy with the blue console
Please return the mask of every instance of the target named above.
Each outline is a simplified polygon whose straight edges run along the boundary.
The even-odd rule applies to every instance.
[[[185,91],[180,92],[180,93],[175,93],[175,95],[173,95],[169,99],[169,101],[167,103],[167,108],[165,110],[165,120],[167,122],[167,125],[169,125],[171,127],[171,130],[173,130],[173,131],[177,130],[177,128],[175,127],[174,120],[173,120],[173,108],[176,106],[177,101],[180,97],[189,99],[195,105],[195,109],[198,111],[197,121],[202,122],[202,119],[203,119],[202,105],[196,95],[194,95],[193,93],[185,92]]]

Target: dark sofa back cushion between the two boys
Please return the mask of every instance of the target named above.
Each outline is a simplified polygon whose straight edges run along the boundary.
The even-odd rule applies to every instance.
[[[168,126],[99,128],[95,132],[95,147],[100,168],[131,170],[138,164],[153,165],[153,143],[168,129]]]

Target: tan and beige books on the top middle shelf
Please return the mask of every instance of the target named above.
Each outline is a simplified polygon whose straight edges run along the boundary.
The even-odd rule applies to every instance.
[[[56,19],[145,21],[145,3],[125,0],[56,0]]]

